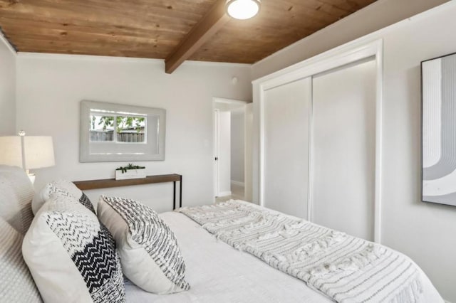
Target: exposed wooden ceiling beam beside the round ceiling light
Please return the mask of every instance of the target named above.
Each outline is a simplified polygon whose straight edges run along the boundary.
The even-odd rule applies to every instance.
[[[180,45],[165,60],[166,73],[175,71],[229,21],[230,18],[225,13],[225,3],[226,0],[217,0],[201,21],[182,39]]]

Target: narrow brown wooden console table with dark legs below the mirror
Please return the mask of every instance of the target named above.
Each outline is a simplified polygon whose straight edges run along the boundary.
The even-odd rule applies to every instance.
[[[81,191],[86,191],[86,190],[90,190],[90,189],[172,182],[174,184],[173,196],[172,196],[173,197],[173,205],[172,205],[173,208],[172,209],[176,209],[176,182],[177,181],[179,181],[179,187],[180,187],[179,207],[182,207],[182,175],[180,175],[180,174],[146,176],[145,178],[126,179],[126,180],[115,180],[115,179],[84,180],[84,181],[73,181],[73,183],[79,189],[81,189]]]

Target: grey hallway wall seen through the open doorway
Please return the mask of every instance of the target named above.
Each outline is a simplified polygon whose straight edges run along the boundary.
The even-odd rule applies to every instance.
[[[244,107],[231,112],[231,181],[244,184]]]

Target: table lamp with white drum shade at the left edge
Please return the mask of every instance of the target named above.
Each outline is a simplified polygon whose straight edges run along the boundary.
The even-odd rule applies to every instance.
[[[30,174],[30,169],[56,164],[52,137],[26,136],[24,131],[19,132],[19,136],[0,137],[0,164],[25,169],[33,184],[35,174]]]

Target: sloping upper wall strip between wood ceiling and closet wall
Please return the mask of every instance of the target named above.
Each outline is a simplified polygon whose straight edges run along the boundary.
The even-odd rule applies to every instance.
[[[252,66],[257,79],[449,0],[378,0]]]

